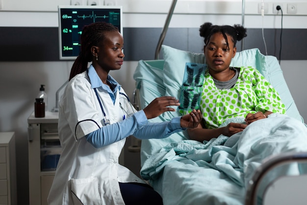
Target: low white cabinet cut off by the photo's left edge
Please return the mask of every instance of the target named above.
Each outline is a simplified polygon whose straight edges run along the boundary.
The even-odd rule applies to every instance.
[[[0,132],[0,205],[17,205],[14,132]]]

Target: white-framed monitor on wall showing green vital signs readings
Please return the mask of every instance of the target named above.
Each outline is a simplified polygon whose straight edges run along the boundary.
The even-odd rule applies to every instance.
[[[58,6],[60,59],[74,60],[80,52],[80,36],[85,25],[104,21],[123,34],[121,6]]]

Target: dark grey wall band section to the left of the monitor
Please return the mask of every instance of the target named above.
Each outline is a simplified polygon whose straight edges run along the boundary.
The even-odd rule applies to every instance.
[[[58,28],[0,27],[0,61],[59,60]]]

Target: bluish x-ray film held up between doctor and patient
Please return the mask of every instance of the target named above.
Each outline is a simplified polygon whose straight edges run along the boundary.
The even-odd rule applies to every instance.
[[[179,98],[179,111],[191,112],[199,109],[202,87],[205,78],[206,64],[190,63],[185,64],[185,71]],[[182,112],[181,112],[182,113]]]

